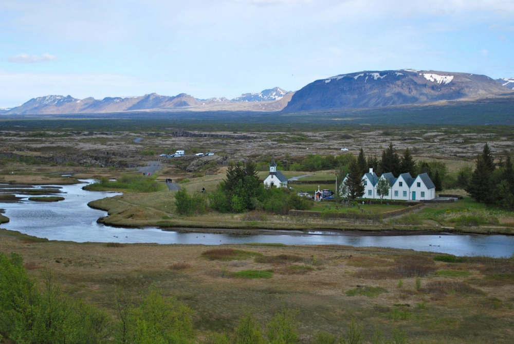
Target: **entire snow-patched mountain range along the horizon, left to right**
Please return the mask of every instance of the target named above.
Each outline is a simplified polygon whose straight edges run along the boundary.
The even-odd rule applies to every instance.
[[[258,111],[302,112],[344,108],[420,105],[455,100],[476,100],[514,94],[514,78],[493,80],[484,75],[433,70],[360,71],[316,80],[297,92],[280,87],[245,93],[234,99],[197,99],[181,93],[140,97],[71,96],[33,98],[3,115],[117,113],[125,111]]]

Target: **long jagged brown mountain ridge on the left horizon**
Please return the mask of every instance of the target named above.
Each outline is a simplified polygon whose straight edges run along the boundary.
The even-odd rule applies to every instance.
[[[175,97],[159,96],[152,93],[142,97],[107,97],[102,100],[92,97],[77,99],[71,96],[46,96],[32,98],[28,102],[7,111],[6,114],[106,113],[130,110],[160,110],[198,104],[199,102],[196,99],[183,93]]]

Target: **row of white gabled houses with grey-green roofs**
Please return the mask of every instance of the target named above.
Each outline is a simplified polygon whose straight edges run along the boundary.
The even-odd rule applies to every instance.
[[[391,188],[389,195],[384,196],[384,200],[401,200],[401,201],[416,201],[416,200],[432,200],[435,198],[435,185],[427,173],[418,174],[413,178],[410,173],[402,173],[396,178],[392,173],[383,173],[378,177],[373,169],[369,173],[362,176],[364,181],[364,195],[361,198],[377,198],[378,180],[385,178]],[[346,177],[343,180],[345,182]]]

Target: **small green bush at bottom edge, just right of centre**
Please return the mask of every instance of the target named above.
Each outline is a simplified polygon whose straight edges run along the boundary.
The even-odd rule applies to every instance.
[[[270,344],[293,344],[298,342],[298,311],[282,309],[273,315],[266,325]]]

